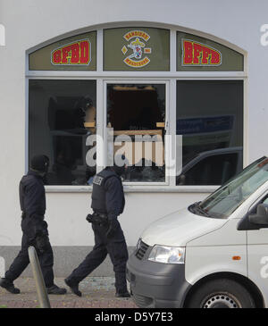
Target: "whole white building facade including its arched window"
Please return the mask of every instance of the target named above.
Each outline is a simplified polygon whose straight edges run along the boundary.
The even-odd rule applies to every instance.
[[[0,0],[6,265],[20,249],[18,185],[33,155],[50,158],[46,221],[58,276],[94,245],[85,220],[92,177],[115,153],[128,163],[120,222],[130,252],[149,223],[266,155],[267,9],[242,0]],[[107,261],[95,274],[112,272]]]

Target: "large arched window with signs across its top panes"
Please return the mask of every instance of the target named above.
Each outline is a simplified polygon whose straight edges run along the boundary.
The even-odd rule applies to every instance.
[[[197,34],[104,26],[29,50],[28,157],[50,157],[48,185],[90,186],[119,153],[133,187],[220,185],[242,169],[245,58]]]

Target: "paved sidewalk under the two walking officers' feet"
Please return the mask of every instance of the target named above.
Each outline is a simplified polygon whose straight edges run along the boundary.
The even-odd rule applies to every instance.
[[[88,277],[80,282],[82,297],[73,295],[63,278],[55,278],[54,283],[67,288],[64,296],[49,295],[52,308],[137,308],[131,298],[114,297],[114,278]],[[0,308],[38,308],[38,295],[35,280],[19,278],[14,281],[21,294],[13,295],[0,288]]]

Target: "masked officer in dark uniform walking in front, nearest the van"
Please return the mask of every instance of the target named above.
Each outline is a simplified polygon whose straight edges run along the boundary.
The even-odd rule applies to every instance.
[[[116,160],[115,160],[116,162]],[[95,235],[95,247],[80,263],[65,283],[81,297],[79,283],[110,255],[115,273],[115,297],[130,297],[126,281],[126,263],[129,258],[126,241],[117,217],[123,212],[125,198],[121,174],[125,165],[106,167],[93,180],[92,204],[94,213],[88,214]]]

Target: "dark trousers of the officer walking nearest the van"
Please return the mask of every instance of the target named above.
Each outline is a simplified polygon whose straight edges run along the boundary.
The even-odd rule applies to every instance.
[[[92,229],[95,235],[95,246],[78,268],[71,273],[68,280],[73,284],[79,283],[103,263],[106,256],[109,255],[115,273],[116,292],[125,293],[127,291],[126,263],[129,254],[120,224],[113,234],[113,238],[106,237],[107,226],[105,225],[92,223]]]

